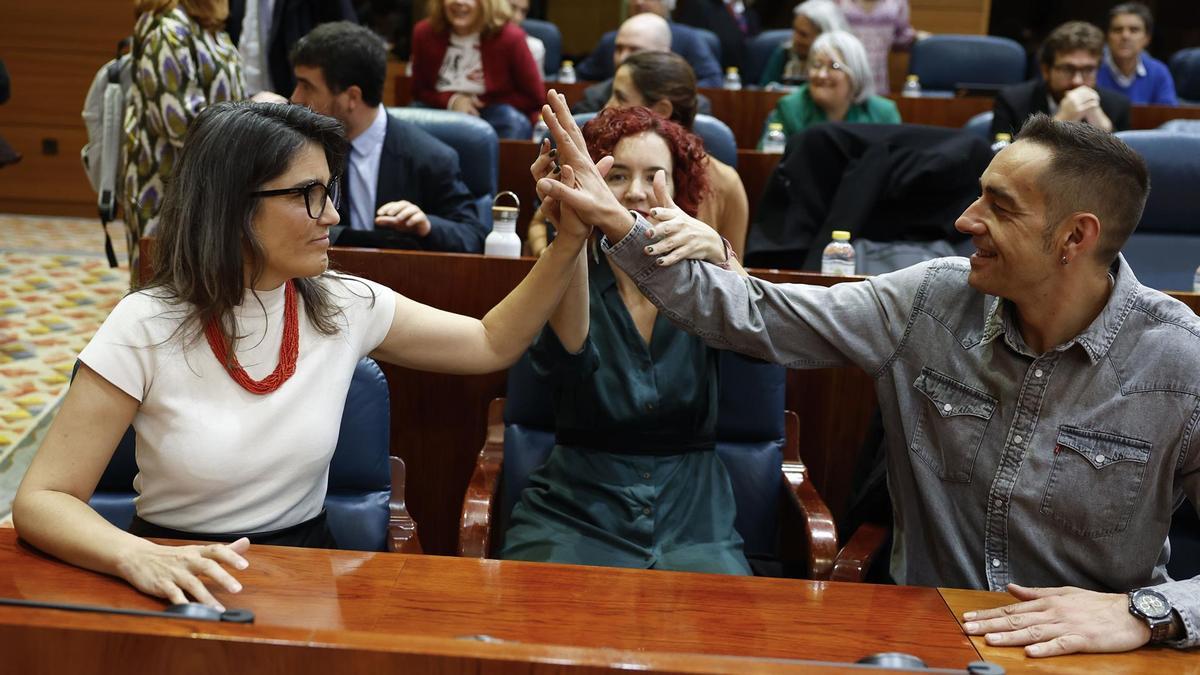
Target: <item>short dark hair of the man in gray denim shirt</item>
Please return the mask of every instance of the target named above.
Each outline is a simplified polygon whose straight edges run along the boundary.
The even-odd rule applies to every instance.
[[[1050,166],[1038,179],[1046,197],[1048,241],[1062,219],[1076,211],[1091,213],[1102,225],[1097,258],[1105,267],[1112,264],[1146,207],[1146,161],[1106,131],[1042,113],[1025,121],[1016,139],[1050,151]]]

